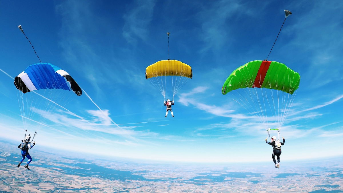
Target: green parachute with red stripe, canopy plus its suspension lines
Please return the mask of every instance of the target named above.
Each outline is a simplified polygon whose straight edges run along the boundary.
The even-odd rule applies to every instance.
[[[252,122],[260,122],[264,129],[276,130],[282,128],[285,121],[287,123],[299,83],[299,73],[286,65],[276,61],[254,60],[238,67],[228,76],[222,94],[244,107]]]

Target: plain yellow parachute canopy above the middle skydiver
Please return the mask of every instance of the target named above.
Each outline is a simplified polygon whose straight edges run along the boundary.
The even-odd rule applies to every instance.
[[[182,76],[192,78],[192,67],[179,60],[161,60],[145,69],[145,78],[158,76]]]

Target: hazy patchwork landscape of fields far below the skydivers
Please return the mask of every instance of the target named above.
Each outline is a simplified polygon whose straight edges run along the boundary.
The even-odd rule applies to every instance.
[[[0,142],[2,192],[342,192],[343,158],[306,162],[197,164],[82,158],[33,150],[31,170],[19,149]]]

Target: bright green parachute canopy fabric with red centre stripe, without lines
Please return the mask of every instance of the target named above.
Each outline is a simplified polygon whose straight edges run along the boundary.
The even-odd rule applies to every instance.
[[[222,94],[239,88],[267,88],[293,94],[298,89],[300,75],[286,65],[267,60],[254,60],[238,67],[226,79]]]

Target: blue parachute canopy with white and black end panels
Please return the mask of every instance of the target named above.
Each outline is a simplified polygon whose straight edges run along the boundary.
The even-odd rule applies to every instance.
[[[14,85],[23,93],[39,89],[71,89],[78,96],[82,94],[79,85],[66,71],[50,63],[28,66],[25,71],[14,78]]]

